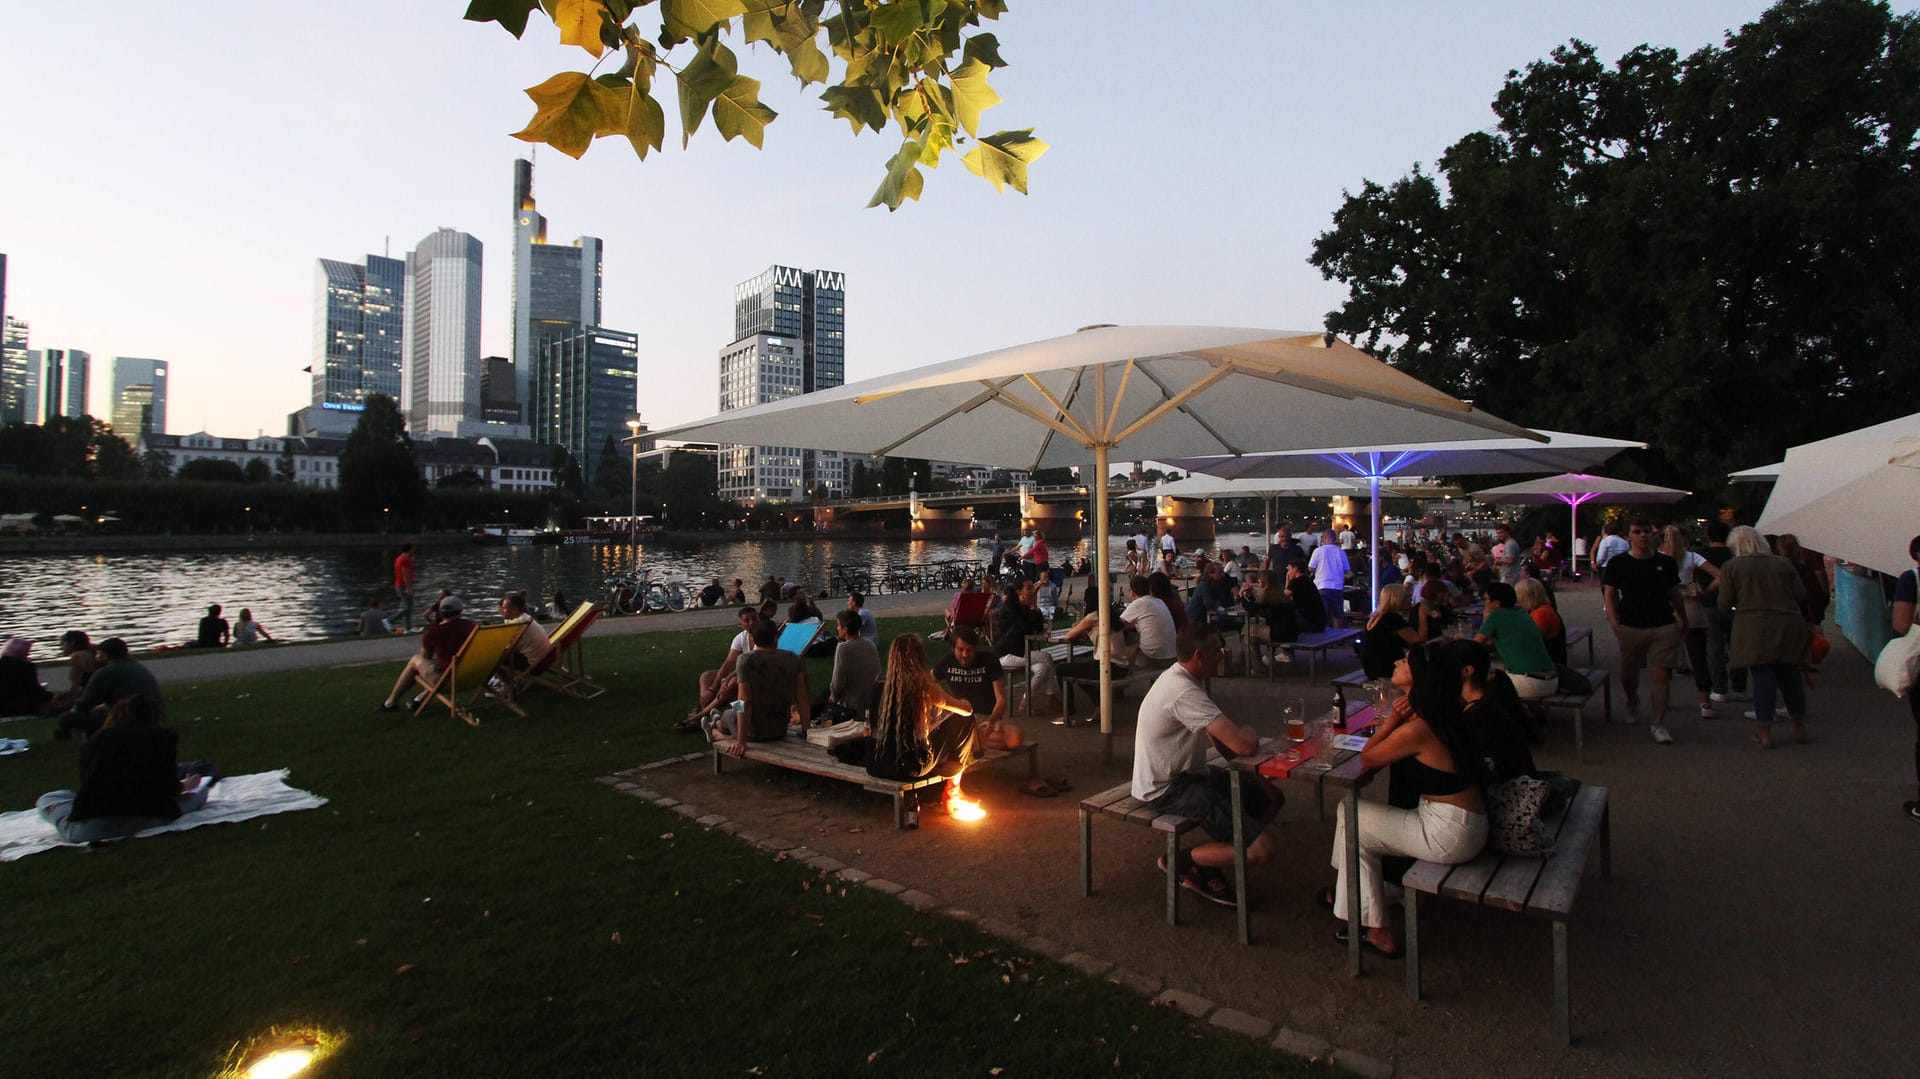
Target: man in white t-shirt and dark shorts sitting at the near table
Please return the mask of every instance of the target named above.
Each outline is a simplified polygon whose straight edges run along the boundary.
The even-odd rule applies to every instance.
[[[1179,635],[1179,662],[1154,680],[1140,701],[1133,731],[1133,797],[1160,812],[1200,822],[1212,843],[1179,852],[1173,866],[1181,887],[1221,906],[1233,906],[1233,885],[1221,872],[1233,864],[1233,793],[1225,768],[1210,766],[1212,743],[1225,753],[1260,749],[1260,733],[1227,718],[1206,693],[1206,674],[1219,664],[1219,630],[1188,624]],[[1277,847],[1267,826],[1284,799],[1265,779],[1250,778],[1240,789],[1246,864],[1273,858]],[[1165,868],[1165,858],[1162,858]]]

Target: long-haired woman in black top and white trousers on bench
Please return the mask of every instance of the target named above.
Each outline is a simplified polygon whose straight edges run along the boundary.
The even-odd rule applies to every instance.
[[[1421,645],[1394,664],[1394,685],[1404,693],[1380,720],[1359,762],[1390,768],[1392,785],[1417,797],[1415,808],[1394,808],[1359,801],[1359,879],[1346,875],[1346,814],[1332,837],[1334,918],[1346,918],[1348,889],[1359,889],[1359,923],[1365,947],[1400,958],[1400,937],[1388,929],[1386,893],[1380,860],[1405,854],[1427,862],[1457,866],[1471,862],[1486,845],[1486,762],[1475,724],[1465,714],[1461,670],[1436,651]],[[1336,939],[1342,943],[1348,927]]]

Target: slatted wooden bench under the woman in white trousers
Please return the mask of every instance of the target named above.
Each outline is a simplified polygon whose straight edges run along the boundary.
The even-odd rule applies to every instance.
[[[1476,906],[1532,914],[1553,922],[1553,1033],[1561,1044],[1572,1044],[1572,993],[1567,962],[1567,918],[1580,899],[1586,864],[1599,847],[1599,875],[1613,879],[1613,818],[1607,806],[1607,787],[1580,787],[1572,803],[1555,818],[1546,820],[1553,839],[1553,854],[1526,858],[1488,849],[1461,866],[1413,862],[1400,885],[1405,889],[1407,912],[1407,996],[1421,998],[1421,920],[1423,895],[1457,899]]]

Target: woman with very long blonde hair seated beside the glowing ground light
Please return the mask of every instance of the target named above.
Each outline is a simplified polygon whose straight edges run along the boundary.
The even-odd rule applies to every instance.
[[[874,762],[883,779],[922,779],[945,762],[973,762],[973,705],[933,680],[918,634],[900,634],[887,649],[887,678],[874,708]],[[960,781],[954,778],[952,793]]]

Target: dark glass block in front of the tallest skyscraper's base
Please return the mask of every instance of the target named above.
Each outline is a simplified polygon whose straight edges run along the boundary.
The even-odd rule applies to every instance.
[[[564,445],[593,482],[601,445],[628,436],[626,420],[639,403],[639,336],[584,326],[549,334],[534,355],[528,422],[536,442]]]

